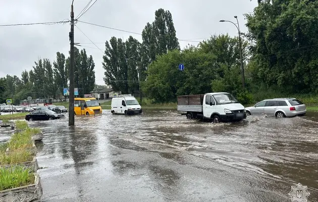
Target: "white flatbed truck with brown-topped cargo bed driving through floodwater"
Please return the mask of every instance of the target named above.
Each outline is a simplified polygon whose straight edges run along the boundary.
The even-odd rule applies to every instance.
[[[244,106],[227,92],[178,96],[177,110],[185,112],[187,119],[205,119],[213,123],[246,119]]]

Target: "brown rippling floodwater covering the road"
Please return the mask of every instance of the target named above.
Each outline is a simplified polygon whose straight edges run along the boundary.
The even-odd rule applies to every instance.
[[[298,183],[318,201],[317,116],[213,124],[104,110],[74,128],[67,118],[29,122],[44,132],[41,201],[291,201]]]

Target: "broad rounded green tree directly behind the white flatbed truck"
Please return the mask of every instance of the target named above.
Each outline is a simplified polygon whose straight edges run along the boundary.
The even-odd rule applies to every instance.
[[[184,71],[178,69],[180,61],[185,65]],[[214,55],[196,48],[169,51],[149,65],[142,91],[155,102],[174,102],[177,95],[210,92],[218,68]]]

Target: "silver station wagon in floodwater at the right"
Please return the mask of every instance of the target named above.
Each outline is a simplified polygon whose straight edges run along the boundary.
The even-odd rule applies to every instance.
[[[264,99],[253,107],[245,108],[247,115],[294,117],[306,114],[306,106],[296,98]]]

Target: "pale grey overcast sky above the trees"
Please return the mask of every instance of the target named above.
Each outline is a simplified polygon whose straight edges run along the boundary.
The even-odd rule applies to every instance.
[[[74,0],[75,17],[88,2],[89,0]],[[71,4],[72,0],[2,0],[0,25],[70,19]],[[233,17],[235,15],[238,16],[241,31],[246,32],[243,14],[252,12],[256,6],[256,0],[97,0],[79,20],[141,33],[146,23],[154,20],[154,12],[163,8],[172,14],[178,39],[199,41],[211,34],[237,35],[237,29],[233,24],[219,22],[221,19],[235,21]],[[101,50],[104,49],[104,42],[112,36],[126,40],[132,35],[141,42],[141,36],[138,34],[81,22],[76,26]],[[104,84],[102,80],[104,70],[101,64],[103,53],[78,28],[74,28],[75,42],[87,46],[84,48],[88,55],[92,55],[95,62],[96,84]],[[56,52],[64,53],[68,57],[69,31],[69,23],[0,27],[0,77],[7,74],[20,77],[21,72],[24,69],[31,70],[34,61],[39,58],[48,58],[53,62],[56,59]],[[188,43],[198,44],[198,42],[179,42],[181,48]]]

